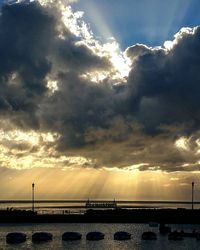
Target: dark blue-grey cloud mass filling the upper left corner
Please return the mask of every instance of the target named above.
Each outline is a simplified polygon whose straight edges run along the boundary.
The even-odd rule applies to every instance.
[[[0,111],[19,126],[37,128],[37,105],[47,91],[47,56],[54,18],[36,3],[4,5],[0,16]]]

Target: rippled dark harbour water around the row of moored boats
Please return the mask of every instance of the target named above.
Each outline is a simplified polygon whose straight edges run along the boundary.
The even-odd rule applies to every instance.
[[[200,229],[200,225],[172,225],[173,229],[183,229],[190,231]],[[116,231],[124,230],[132,234],[129,241],[114,241],[113,234]],[[141,240],[142,232],[151,230],[157,233],[156,241]],[[20,231],[27,234],[28,239],[25,243],[9,245],[5,241],[8,232]],[[31,242],[31,235],[37,231],[47,231],[53,234],[53,241],[49,243],[34,244]],[[65,231],[78,231],[83,238],[77,242],[62,242],[61,236]],[[101,231],[105,233],[105,239],[97,242],[86,241],[85,236],[89,231]],[[59,249],[88,249],[88,250],[130,250],[130,249],[150,249],[150,250],[179,250],[179,249],[200,249],[200,241],[193,238],[185,238],[183,241],[169,241],[166,236],[158,233],[158,228],[150,228],[148,224],[0,224],[0,249],[1,250],[59,250]]]

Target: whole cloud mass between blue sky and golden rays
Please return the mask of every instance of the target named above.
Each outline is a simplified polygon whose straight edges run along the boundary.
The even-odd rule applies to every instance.
[[[199,171],[200,28],[122,53],[82,15],[62,1],[2,7],[1,165]]]

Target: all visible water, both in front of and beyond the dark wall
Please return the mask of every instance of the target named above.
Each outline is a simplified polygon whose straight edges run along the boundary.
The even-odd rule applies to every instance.
[[[38,213],[84,213],[84,201],[38,201],[35,209]],[[127,208],[191,208],[190,202],[119,202],[119,206]],[[0,209],[31,209],[31,201],[3,201],[0,202]],[[194,204],[199,209],[199,203]],[[173,224],[169,225],[172,230],[184,230],[192,232],[200,231],[200,225]],[[50,232],[53,240],[47,243],[36,244],[31,240],[35,232]],[[62,241],[62,234],[67,231],[75,231],[82,234],[82,239],[76,242]],[[86,234],[91,231],[100,231],[105,238],[100,241],[87,241]],[[117,231],[126,231],[131,234],[131,240],[116,241],[113,236]],[[152,231],[157,234],[157,240],[144,241],[141,235],[145,231]],[[6,243],[6,235],[9,232],[23,232],[27,235],[24,243],[10,245]],[[170,241],[167,236],[159,233],[159,228],[151,227],[151,224],[141,223],[28,223],[28,224],[2,224],[0,222],[0,250],[59,250],[59,249],[87,249],[87,250],[200,250],[200,241],[195,238],[184,238],[182,241]]]

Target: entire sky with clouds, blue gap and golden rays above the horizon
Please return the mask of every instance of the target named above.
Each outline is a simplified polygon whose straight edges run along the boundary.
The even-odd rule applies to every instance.
[[[200,199],[197,0],[0,6],[0,199]]]

